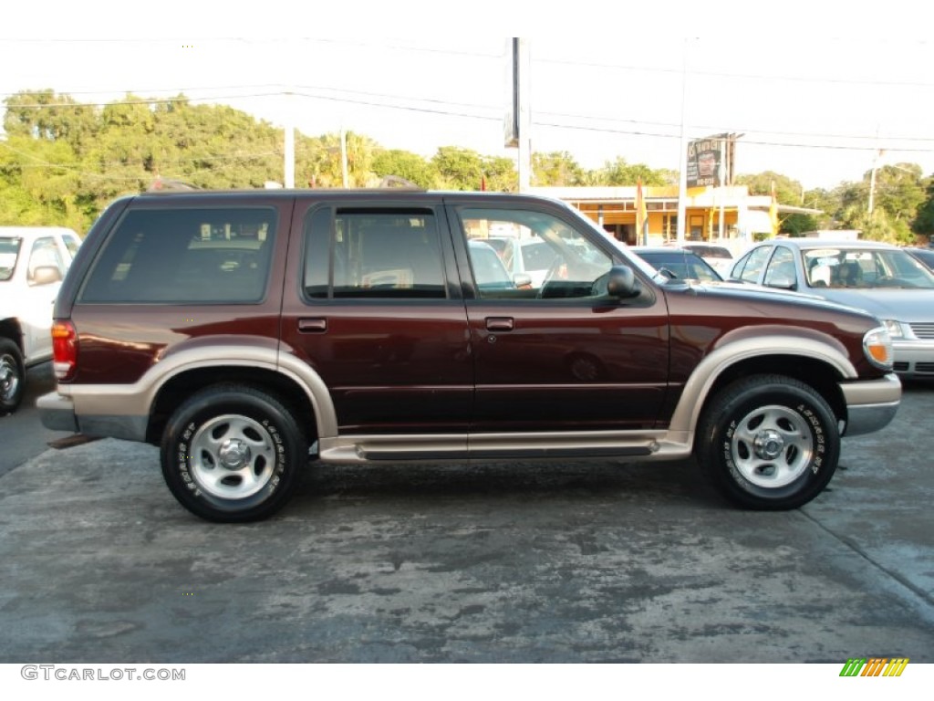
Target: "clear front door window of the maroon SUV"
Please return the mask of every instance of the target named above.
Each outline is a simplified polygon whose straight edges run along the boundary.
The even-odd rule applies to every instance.
[[[468,242],[490,241],[512,276],[512,289],[483,283],[485,250],[468,245],[477,296],[567,298],[595,296],[594,283],[613,261],[587,236],[540,211],[460,207],[460,224]],[[505,239],[508,246],[498,245]],[[508,251],[515,251],[510,256]],[[521,265],[519,265],[521,261]],[[526,292],[526,288],[531,292]],[[518,290],[518,293],[512,290]]]

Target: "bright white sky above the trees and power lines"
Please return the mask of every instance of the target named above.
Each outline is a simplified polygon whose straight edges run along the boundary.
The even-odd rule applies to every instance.
[[[459,146],[515,159],[503,119],[519,36],[534,151],[677,170],[686,140],[734,133],[737,173],[830,189],[873,164],[934,174],[932,20],[901,0],[50,0],[0,9],[0,99],[185,93],[308,136],[343,128],[426,157]]]

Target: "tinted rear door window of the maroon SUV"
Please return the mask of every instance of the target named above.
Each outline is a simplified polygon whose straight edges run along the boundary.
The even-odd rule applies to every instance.
[[[305,222],[312,299],[445,299],[438,227],[424,209],[319,208]]]

